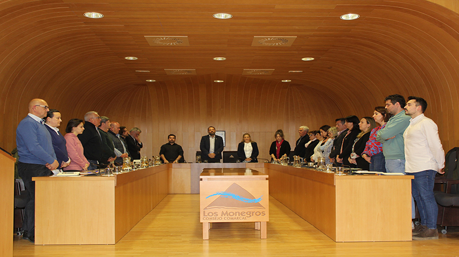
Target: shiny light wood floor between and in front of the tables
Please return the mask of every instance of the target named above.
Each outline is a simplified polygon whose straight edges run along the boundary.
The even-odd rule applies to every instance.
[[[103,218],[103,217],[101,217]],[[459,232],[438,240],[335,243],[270,198],[268,238],[253,223],[215,223],[202,240],[199,195],[168,195],[115,245],[33,245],[20,237],[14,256],[37,257],[376,257],[459,256]],[[456,230],[458,231],[458,230]]]

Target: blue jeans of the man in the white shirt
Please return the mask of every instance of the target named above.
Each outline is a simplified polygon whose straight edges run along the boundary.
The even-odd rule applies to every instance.
[[[437,228],[438,206],[434,197],[435,174],[437,171],[425,170],[407,175],[415,176],[411,180],[411,192],[416,199],[421,225],[429,229]]]

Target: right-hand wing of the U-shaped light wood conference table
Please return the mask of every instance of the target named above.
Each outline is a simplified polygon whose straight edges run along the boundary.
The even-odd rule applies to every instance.
[[[270,194],[336,242],[411,241],[413,176],[336,176],[265,163]]]

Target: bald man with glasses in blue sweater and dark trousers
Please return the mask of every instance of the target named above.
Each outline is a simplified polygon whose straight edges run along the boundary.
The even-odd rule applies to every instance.
[[[44,125],[48,112],[48,103],[43,99],[32,99],[29,103],[29,114],[21,120],[16,129],[18,148],[18,174],[27,189],[25,205],[25,231],[22,238],[35,241],[35,181],[33,177],[50,176],[51,170],[57,169],[59,163],[54,153],[51,135]]]

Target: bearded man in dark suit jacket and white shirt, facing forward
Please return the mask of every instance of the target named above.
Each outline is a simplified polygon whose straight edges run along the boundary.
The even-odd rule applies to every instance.
[[[209,135],[201,138],[201,158],[209,162],[220,162],[223,151],[223,138],[215,135],[215,128],[207,129]]]

